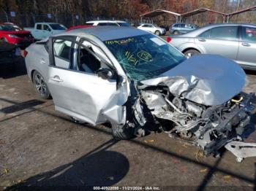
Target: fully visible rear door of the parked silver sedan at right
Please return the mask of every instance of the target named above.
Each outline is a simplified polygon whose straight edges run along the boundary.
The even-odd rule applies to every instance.
[[[236,61],[238,55],[238,26],[219,26],[203,32],[195,43],[203,53],[222,55]]]

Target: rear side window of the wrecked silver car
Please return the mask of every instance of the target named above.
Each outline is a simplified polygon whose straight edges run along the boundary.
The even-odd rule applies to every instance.
[[[53,54],[56,66],[69,69],[71,44],[72,42],[63,39],[53,40]]]

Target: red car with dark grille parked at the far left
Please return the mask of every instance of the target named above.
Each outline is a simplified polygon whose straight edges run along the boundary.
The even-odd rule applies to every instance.
[[[13,23],[0,24],[0,39],[18,47],[25,48],[34,42],[30,31],[24,31]]]

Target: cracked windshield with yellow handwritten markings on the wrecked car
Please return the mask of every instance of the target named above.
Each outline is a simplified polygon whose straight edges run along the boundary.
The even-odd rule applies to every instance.
[[[153,34],[108,40],[105,44],[127,76],[135,81],[157,77],[186,59]]]

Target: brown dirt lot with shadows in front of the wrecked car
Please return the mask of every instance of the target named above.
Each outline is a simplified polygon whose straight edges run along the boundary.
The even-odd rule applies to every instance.
[[[0,74],[2,189],[24,184],[255,189],[255,157],[243,163],[236,163],[230,152],[220,158],[202,157],[196,147],[166,133],[113,141],[110,129],[77,125],[55,112],[53,101],[39,99],[23,63],[19,65],[16,73]],[[249,72],[246,92],[256,91],[255,79]]]

